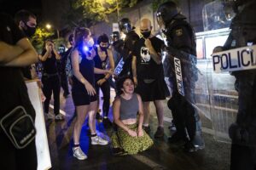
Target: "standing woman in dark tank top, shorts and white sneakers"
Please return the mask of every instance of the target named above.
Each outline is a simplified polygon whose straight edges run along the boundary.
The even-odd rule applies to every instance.
[[[75,46],[71,54],[73,68],[72,96],[73,103],[76,106],[77,119],[73,129],[73,156],[79,160],[84,160],[87,156],[79,146],[79,138],[87,112],[94,113],[89,114],[90,116],[94,116],[90,117],[89,120],[94,120],[95,123],[97,97],[94,74],[107,74],[111,73],[111,71],[101,70],[94,67],[95,64],[93,58],[96,53],[92,48],[94,42],[89,29],[77,28],[74,31],[74,42]],[[103,140],[96,135],[95,126],[92,126],[92,123],[89,124],[91,133],[94,132],[94,134],[91,135],[91,144],[108,144],[108,141]]]

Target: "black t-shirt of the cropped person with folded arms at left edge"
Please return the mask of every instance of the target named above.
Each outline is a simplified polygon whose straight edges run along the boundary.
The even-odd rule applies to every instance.
[[[0,41],[15,45],[25,35],[7,14],[0,14]],[[0,117],[7,114],[15,106],[31,106],[26,84],[19,67],[0,66]]]

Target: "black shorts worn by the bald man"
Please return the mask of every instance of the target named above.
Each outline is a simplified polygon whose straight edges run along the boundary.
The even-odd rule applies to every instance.
[[[136,92],[141,95],[144,102],[166,99],[168,96],[168,88],[164,79],[154,80],[154,82],[138,80]]]

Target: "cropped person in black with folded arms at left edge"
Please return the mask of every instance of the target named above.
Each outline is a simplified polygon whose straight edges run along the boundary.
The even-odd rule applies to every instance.
[[[16,106],[22,105],[34,121],[35,111],[20,67],[36,63],[37,53],[9,15],[0,14],[0,21],[0,119]],[[18,150],[0,129],[0,150],[3,153],[0,169],[37,169],[35,140],[26,148]]]

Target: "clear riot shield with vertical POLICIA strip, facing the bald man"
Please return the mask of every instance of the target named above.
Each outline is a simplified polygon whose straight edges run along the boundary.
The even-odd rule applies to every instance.
[[[196,148],[203,149],[205,144],[201,136],[201,120],[199,108],[195,101],[195,83],[198,81],[199,70],[196,67],[196,56],[184,52],[170,54],[168,48],[163,52],[163,65],[166,84],[169,89],[177,91],[195,110],[196,132],[193,143]],[[187,130],[186,130],[187,131]]]

